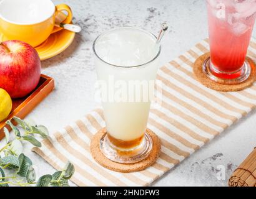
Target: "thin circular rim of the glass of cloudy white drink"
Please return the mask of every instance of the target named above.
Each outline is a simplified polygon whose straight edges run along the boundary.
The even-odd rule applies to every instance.
[[[147,64],[149,64],[149,63],[151,63],[151,62],[154,62],[154,60],[156,60],[156,59],[159,57],[160,52],[162,51],[162,46],[161,46],[161,45],[159,45],[159,51],[158,51],[157,55],[155,55],[154,58],[152,58],[151,60],[149,60],[149,62],[145,62],[145,63],[142,63],[142,64],[140,64],[140,65],[135,65],[135,66],[130,66],[130,67],[124,67],[124,66],[121,66],[121,65],[114,65],[114,64],[112,64],[112,63],[109,63],[109,62],[106,62],[105,60],[103,60],[101,57],[99,57],[99,55],[98,55],[97,52],[96,52],[96,48],[95,48],[95,47],[96,47],[96,42],[97,42],[97,40],[98,40],[100,37],[102,37],[102,35],[105,35],[105,34],[107,34],[107,33],[109,33],[109,32],[112,32],[113,30],[120,30],[120,29],[135,29],[135,30],[141,30],[142,32],[145,32],[145,33],[147,33],[147,34],[153,36],[153,37],[155,38],[155,40],[157,40],[157,37],[156,37],[154,34],[152,34],[151,32],[149,32],[149,31],[147,31],[147,30],[144,30],[144,29],[137,28],[137,27],[129,27],[129,26],[127,26],[127,27],[118,27],[118,28],[116,28],[116,29],[107,30],[107,31],[103,32],[102,34],[100,34],[99,36],[97,36],[96,39],[95,39],[94,42],[93,42],[93,45],[92,45],[92,50],[93,50],[93,52],[94,52],[94,55],[96,55],[96,57],[99,58],[99,60],[101,60],[101,61],[104,62],[104,63],[107,63],[107,65],[111,65],[112,67],[118,67],[118,68],[138,68],[138,67],[143,67],[143,66],[145,66],[145,65],[147,65]]]

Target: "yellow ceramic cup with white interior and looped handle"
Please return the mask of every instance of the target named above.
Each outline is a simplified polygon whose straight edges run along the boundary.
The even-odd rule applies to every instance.
[[[4,40],[21,40],[32,47],[42,44],[50,34],[61,30],[54,27],[56,16],[67,12],[62,21],[72,21],[72,11],[66,4],[55,6],[51,0],[2,0],[0,1],[0,32]]]

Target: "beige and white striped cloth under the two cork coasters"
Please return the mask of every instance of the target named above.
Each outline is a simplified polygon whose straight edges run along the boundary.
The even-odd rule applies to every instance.
[[[148,127],[160,137],[162,149],[152,167],[121,174],[94,161],[89,146],[92,136],[105,126],[101,109],[52,134],[40,149],[32,150],[56,169],[70,160],[76,167],[72,181],[79,186],[149,185],[255,108],[256,85],[244,91],[222,93],[195,80],[192,65],[208,51],[206,39],[159,70],[158,79],[164,84],[162,105],[151,110]],[[248,53],[255,60],[255,39]]]

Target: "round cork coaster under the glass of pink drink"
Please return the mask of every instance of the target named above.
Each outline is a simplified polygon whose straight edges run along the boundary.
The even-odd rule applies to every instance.
[[[204,55],[200,56],[199,58],[197,58],[197,60],[195,60],[193,67],[193,71],[197,80],[200,81],[200,83],[202,83],[203,85],[207,86],[208,88],[224,92],[240,91],[251,86],[256,80],[255,63],[251,58],[247,57],[247,62],[249,62],[252,70],[251,75],[247,80],[238,85],[224,85],[221,83],[216,83],[215,81],[210,80],[202,70],[205,60],[209,57],[210,53],[205,53]]]

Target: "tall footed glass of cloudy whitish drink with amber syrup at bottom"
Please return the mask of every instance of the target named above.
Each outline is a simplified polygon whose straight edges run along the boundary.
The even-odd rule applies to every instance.
[[[160,53],[155,41],[149,32],[124,27],[105,32],[94,42],[107,127],[101,147],[116,162],[137,162],[152,147],[145,131]]]

